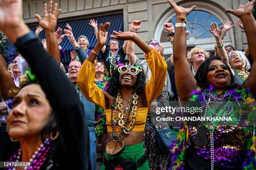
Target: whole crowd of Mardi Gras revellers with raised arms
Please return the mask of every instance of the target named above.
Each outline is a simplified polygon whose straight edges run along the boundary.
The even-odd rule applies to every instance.
[[[165,23],[173,54],[164,58],[157,40],[145,42],[134,20],[128,32],[108,32],[111,23],[90,20],[96,45],[72,27],[56,28],[61,9],[51,0],[44,18],[36,14],[32,32],[23,20],[22,0],[0,2],[0,30],[15,45],[13,61],[0,56],[0,161],[30,162],[8,170],[96,169],[102,145],[102,170],[256,169],[255,127],[152,125],[153,110],[169,101],[254,101],[256,97],[256,0],[225,10],[239,18],[248,48],[225,46],[232,28],[211,23],[215,55],[188,44],[187,15],[195,9],[167,0],[177,21]],[[45,31],[46,38],[38,35]],[[107,42],[108,36],[111,39]],[[74,50],[66,73],[61,57],[67,37]],[[124,40],[123,45],[118,40]],[[139,59],[137,45],[144,52]],[[255,46],[255,47],[254,47]],[[97,60],[97,56],[103,60]],[[128,61],[125,62],[125,57]],[[224,112],[230,113],[229,109]],[[168,138],[159,137],[166,134]],[[172,138],[172,139],[171,139]]]

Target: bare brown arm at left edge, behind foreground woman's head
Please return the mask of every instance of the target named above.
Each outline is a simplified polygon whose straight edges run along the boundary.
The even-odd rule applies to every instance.
[[[3,56],[0,54],[0,95],[3,97],[3,100],[8,99],[8,91],[12,87],[16,87],[13,78],[7,70],[6,62]],[[0,101],[2,102],[2,101]]]

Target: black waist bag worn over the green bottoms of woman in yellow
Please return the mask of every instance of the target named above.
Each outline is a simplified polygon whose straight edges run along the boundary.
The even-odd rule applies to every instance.
[[[136,163],[132,160],[123,160],[123,159],[113,159],[106,160],[104,159],[103,164],[105,165],[105,170],[136,170],[143,163],[146,162],[146,157],[143,155]]]

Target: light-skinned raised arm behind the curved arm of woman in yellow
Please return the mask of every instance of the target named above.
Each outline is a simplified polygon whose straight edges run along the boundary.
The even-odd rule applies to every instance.
[[[141,28],[142,22],[141,20],[134,20],[130,24],[129,31],[131,32],[137,32]],[[137,56],[134,54],[134,47],[135,43],[131,40],[127,40],[127,47],[126,47],[126,55],[128,57],[129,62],[135,63]]]

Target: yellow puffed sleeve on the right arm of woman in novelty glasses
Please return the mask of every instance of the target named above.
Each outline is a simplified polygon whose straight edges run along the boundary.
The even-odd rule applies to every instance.
[[[147,107],[149,107],[151,102],[161,95],[164,88],[167,65],[164,57],[154,49],[147,52],[145,58],[151,70],[151,79],[147,82],[145,89]]]

